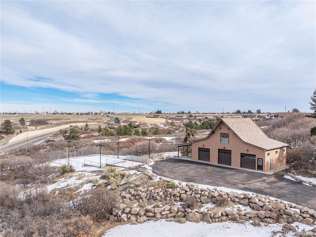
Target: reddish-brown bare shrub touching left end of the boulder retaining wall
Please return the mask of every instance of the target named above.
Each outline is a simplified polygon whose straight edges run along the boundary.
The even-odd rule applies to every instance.
[[[113,190],[96,188],[86,192],[79,200],[78,210],[82,215],[89,215],[93,221],[109,220],[115,207],[117,193]]]

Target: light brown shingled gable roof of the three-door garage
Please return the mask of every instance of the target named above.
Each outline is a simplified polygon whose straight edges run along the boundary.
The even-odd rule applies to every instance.
[[[288,144],[284,142],[278,142],[276,140],[268,138],[265,133],[249,118],[221,118],[212,131],[216,130],[221,122],[227,125],[237,137],[245,143],[265,150],[272,150]],[[205,138],[208,139],[212,132]]]

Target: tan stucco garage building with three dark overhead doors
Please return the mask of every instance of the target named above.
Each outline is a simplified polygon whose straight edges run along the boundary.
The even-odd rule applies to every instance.
[[[268,171],[286,163],[287,146],[250,118],[221,118],[206,138],[192,142],[192,159]]]

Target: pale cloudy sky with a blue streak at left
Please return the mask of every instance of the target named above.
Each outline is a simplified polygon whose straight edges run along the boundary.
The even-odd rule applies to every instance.
[[[1,1],[1,112],[309,112],[316,1]]]

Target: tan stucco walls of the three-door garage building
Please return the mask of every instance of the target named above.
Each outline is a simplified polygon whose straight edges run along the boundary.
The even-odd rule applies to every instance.
[[[229,144],[221,143],[221,133],[229,134]],[[217,129],[212,133],[207,140],[193,142],[192,144],[192,159],[198,160],[198,147],[210,149],[210,163],[218,164],[218,149],[226,149],[232,151],[232,166],[240,167],[240,153],[256,155],[256,170],[258,158],[263,159],[263,171],[270,170],[270,158],[273,159],[272,169],[285,164],[286,152],[283,148],[265,151],[255,146],[242,142],[237,135],[230,130],[224,123],[220,122]],[[248,151],[247,151],[248,150]],[[275,151],[278,150],[278,154]],[[270,156],[267,154],[270,152]]]

